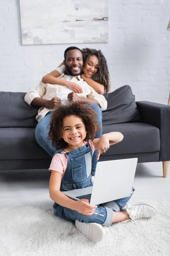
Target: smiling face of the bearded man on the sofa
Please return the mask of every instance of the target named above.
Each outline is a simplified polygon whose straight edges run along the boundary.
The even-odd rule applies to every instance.
[[[82,53],[78,49],[70,50],[65,56],[66,75],[79,76],[83,69]]]

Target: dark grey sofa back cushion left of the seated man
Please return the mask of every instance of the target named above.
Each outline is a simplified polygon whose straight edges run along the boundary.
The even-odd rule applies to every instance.
[[[24,102],[26,93],[0,92],[0,127],[35,127],[38,108]]]

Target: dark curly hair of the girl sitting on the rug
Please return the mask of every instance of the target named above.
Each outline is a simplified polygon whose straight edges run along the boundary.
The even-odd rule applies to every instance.
[[[90,107],[85,106],[85,104],[87,102],[74,102],[68,105],[61,105],[52,113],[48,139],[52,141],[52,145],[56,149],[65,149],[68,146],[68,143],[62,138],[63,119],[66,116],[74,115],[81,118],[87,131],[85,140],[94,140],[100,126],[96,121],[96,112]]]

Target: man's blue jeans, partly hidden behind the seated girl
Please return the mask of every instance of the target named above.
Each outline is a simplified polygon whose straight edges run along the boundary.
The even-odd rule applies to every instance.
[[[100,138],[102,136],[102,111],[99,105],[96,103],[90,103],[90,105],[87,105],[88,107],[92,108],[96,114],[97,114],[97,122],[100,125],[99,133],[96,134],[95,138]],[[50,128],[50,119],[51,119],[52,111],[48,112],[46,116],[44,116],[40,122],[38,122],[36,129],[35,129],[35,138],[37,140],[37,143],[44,148],[44,150],[53,157],[54,153],[57,151],[56,148],[52,146],[51,140],[48,140],[48,131]],[[95,175],[96,171],[96,164],[97,164],[97,150],[94,151],[93,157],[92,157],[92,168],[91,168],[91,175]]]

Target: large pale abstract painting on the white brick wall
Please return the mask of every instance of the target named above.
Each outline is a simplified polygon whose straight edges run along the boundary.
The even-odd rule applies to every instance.
[[[108,42],[108,0],[20,0],[22,44]]]

